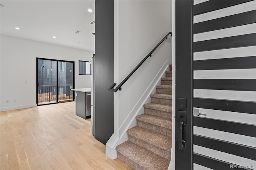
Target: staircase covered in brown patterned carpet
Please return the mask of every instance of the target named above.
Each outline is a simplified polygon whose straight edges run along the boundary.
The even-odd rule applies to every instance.
[[[137,126],[127,130],[128,141],[116,146],[117,158],[136,170],[167,170],[171,160],[172,71],[161,83],[136,117]]]

